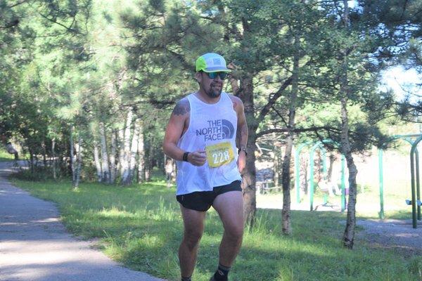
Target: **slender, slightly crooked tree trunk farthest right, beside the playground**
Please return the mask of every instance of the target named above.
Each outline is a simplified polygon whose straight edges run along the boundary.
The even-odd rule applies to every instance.
[[[344,23],[345,29],[349,28],[349,8],[347,6],[347,0],[343,0],[345,5]],[[353,249],[354,244],[354,229],[356,227],[356,195],[357,195],[357,184],[356,175],[357,168],[354,164],[352,157],[352,151],[350,150],[349,141],[349,120],[347,116],[347,98],[349,96],[349,85],[347,77],[347,50],[343,53],[343,75],[341,77],[340,95],[341,95],[341,150],[343,155],[346,157],[347,168],[349,169],[349,202],[347,204],[347,221],[345,233],[343,235],[343,245],[348,249]]]

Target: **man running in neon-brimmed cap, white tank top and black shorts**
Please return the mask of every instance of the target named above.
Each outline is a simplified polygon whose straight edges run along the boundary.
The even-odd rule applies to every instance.
[[[179,100],[167,124],[162,148],[177,160],[177,201],[184,221],[179,247],[181,280],[195,268],[205,212],[212,206],[224,226],[219,265],[212,280],[228,280],[243,237],[241,171],[248,126],[242,101],[222,91],[231,72],[217,53],[196,60],[199,89]],[[237,141],[237,148],[236,148]]]

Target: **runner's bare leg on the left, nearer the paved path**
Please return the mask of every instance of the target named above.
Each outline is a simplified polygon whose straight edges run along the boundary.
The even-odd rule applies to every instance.
[[[195,268],[200,237],[204,232],[205,211],[195,211],[181,206],[184,237],[179,247],[181,277],[191,277]]]

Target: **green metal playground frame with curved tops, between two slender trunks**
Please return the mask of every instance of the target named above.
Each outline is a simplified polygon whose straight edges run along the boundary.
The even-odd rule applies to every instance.
[[[326,150],[324,143],[333,143],[332,140],[326,139],[323,141],[308,141],[302,143],[295,150],[295,188],[296,188],[296,202],[300,203],[300,169],[299,169],[299,156],[300,152],[307,145],[312,145],[309,151],[309,209],[314,210],[314,153],[317,148],[323,153],[322,166],[324,180],[326,179]],[[324,204],[327,203],[327,197],[324,196]],[[345,157],[341,157],[341,211],[345,211],[346,199],[345,199]]]

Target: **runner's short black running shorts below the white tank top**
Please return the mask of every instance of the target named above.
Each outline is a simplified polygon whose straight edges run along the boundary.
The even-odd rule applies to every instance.
[[[207,211],[212,206],[215,198],[229,191],[242,191],[241,181],[234,181],[228,185],[212,188],[212,191],[196,191],[184,195],[177,195],[177,201],[186,209]]]

